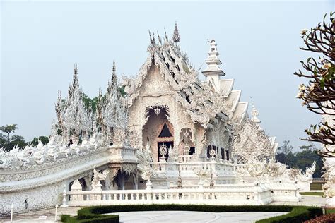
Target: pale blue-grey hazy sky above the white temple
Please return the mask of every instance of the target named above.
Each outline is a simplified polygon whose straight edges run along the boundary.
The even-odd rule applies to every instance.
[[[78,64],[89,97],[105,92],[112,61],[121,78],[136,76],[148,53],[148,30],[172,35],[177,21],[184,52],[196,68],[207,39],[218,44],[224,78],[259,110],[261,126],[281,144],[299,140],[319,116],[295,99],[303,80],[293,73],[302,52],[300,30],[315,27],[334,1],[1,1],[0,125],[16,123],[26,140],[49,135],[54,103],[66,97]],[[204,66],[202,68],[205,68]],[[204,78],[200,74],[200,78]],[[249,107],[250,111],[250,107]]]

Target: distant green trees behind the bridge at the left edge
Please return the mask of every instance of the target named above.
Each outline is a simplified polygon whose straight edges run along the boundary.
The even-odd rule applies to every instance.
[[[6,126],[0,126],[0,148],[3,147],[5,150],[13,150],[13,147],[24,148],[26,145],[30,144],[33,147],[38,145],[40,140],[43,144],[49,143],[49,138],[47,136],[39,136],[33,138],[30,142],[26,142],[25,138],[21,135],[11,135],[18,130],[17,124],[11,124]]]

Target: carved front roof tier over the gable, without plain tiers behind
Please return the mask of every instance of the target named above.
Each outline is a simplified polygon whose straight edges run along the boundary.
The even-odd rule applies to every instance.
[[[177,102],[180,102],[185,112],[191,116],[194,123],[207,127],[208,123],[216,122],[218,116],[229,116],[226,99],[221,91],[213,91],[208,85],[202,84],[198,78],[198,71],[189,63],[187,55],[182,52],[175,40],[154,42],[150,35],[146,62],[141,66],[136,78],[123,76],[124,91],[127,93],[127,104],[132,106],[139,97],[139,89],[146,79],[149,69],[155,65],[160,75],[170,85]],[[179,31],[178,31],[179,35]],[[237,122],[240,123],[240,120]]]

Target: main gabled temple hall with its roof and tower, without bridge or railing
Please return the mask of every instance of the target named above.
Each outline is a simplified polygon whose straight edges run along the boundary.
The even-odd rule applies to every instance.
[[[162,146],[167,153],[175,148],[179,156],[193,155],[198,161],[211,158],[211,150],[218,159],[228,159],[233,126],[245,119],[248,103],[240,102],[241,91],[233,90],[233,79],[221,79],[215,40],[209,41],[204,82],[175,39],[158,40],[151,37],[149,56],[138,76],[124,78],[130,145],[150,150],[154,162],[163,156]],[[168,136],[161,134],[164,128]]]

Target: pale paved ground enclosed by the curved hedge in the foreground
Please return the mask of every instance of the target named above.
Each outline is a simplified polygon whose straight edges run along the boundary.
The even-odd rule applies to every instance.
[[[210,222],[255,222],[259,219],[284,215],[284,212],[189,212],[189,211],[154,211],[154,212],[118,212],[123,223],[210,223]]]

